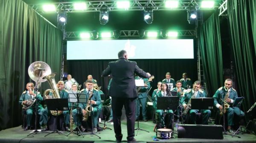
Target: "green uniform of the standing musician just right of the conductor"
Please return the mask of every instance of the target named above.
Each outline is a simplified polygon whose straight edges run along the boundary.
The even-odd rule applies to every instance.
[[[146,120],[147,116],[146,116],[146,102],[147,102],[147,96],[148,96],[148,89],[150,89],[150,83],[148,81],[147,78],[141,78],[139,76],[135,77],[135,80],[140,80],[143,79],[144,83],[147,85],[147,87],[139,87],[139,91],[138,91],[138,100],[136,101],[136,110],[135,110],[135,115],[136,115],[136,119],[139,118],[140,116],[140,104],[142,107],[142,117],[143,120]],[[137,103],[139,101],[139,103]]]

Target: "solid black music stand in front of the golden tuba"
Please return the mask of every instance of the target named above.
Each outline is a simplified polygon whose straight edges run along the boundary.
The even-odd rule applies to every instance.
[[[48,111],[50,110],[56,110],[57,112],[57,125],[58,126],[58,111],[68,111],[68,99],[67,98],[53,98],[53,99],[46,99],[45,103],[47,105]],[[58,130],[58,127],[55,131],[50,132],[49,134],[58,133],[63,134],[67,136],[67,134],[64,134],[63,132]],[[48,136],[49,134],[45,135],[44,137]]]

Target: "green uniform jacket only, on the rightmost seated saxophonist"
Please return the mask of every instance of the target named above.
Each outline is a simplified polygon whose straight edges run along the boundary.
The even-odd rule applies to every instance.
[[[223,87],[220,87],[216,92],[215,94],[213,95],[212,98],[214,98],[214,105],[216,106],[216,104],[220,104],[222,105],[222,100],[221,99],[224,99],[225,96],[227,94],[227,90]],[[230,89],[230,93],[229,93],[229,98],[230,99],[233,99],[234,101],[236,100],[236,97],[238,97],[237,95],[237,92],[235,89],[231,88]]]

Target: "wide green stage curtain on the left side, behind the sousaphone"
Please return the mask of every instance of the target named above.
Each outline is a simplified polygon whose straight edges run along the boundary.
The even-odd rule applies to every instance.
[[[48,63],[60,79],[61,42],[61,31],[22,0],[0,0],[0,130],[22,121],[18,100],[31,81],[31,63]]]

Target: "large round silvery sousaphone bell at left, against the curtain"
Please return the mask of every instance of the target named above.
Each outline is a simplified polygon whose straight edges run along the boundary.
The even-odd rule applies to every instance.
[[[40,74],[40,71],[41,71],[41,74]],[[52,71],[50,66],[47,63],[44,63],[42,61],[36,61],[29,66],[28,73],[29,73],[29,77],[32,80],[34,80],[35,82],[38,81],[39,83],[42,83],[47,81],[46,79],[43,79],[43,77],[51,74]]]

